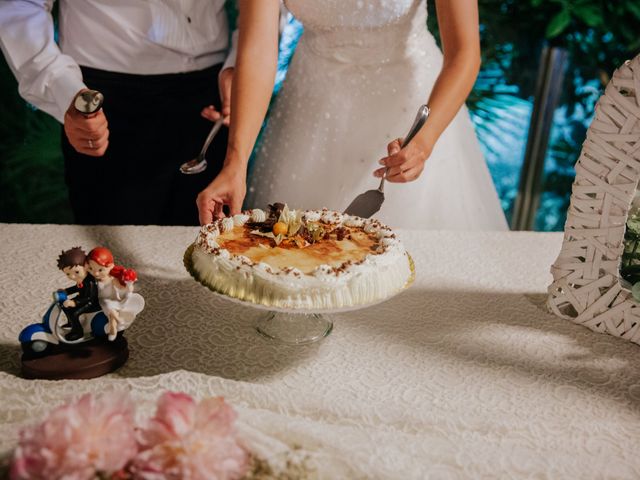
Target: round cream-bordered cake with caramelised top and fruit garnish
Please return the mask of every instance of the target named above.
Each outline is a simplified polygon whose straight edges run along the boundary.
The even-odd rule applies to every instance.
[[[283,204],[203,226],[191,262],[213,290],[279,308],[366,305],[412,277],[402,243],[377,220]]]

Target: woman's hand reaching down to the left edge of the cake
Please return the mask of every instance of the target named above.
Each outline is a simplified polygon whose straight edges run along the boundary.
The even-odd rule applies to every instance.
[[[240,213],[247,192],[246,169],[226,166],[205,188],[196,200],[200,224],[212,223],[224,217],[222,207],[227,205],[229,213]]]

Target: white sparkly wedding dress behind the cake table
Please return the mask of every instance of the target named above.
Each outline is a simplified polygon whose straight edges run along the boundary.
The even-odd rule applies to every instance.
[[[253,163],[245,205],[342,211],[377,188],[387,144],[426,103],[442,54],[424,0],[286,0],[304,25]],[[463,108],[418,180],[385,185],[392,227],[504,230],[506,221]]]

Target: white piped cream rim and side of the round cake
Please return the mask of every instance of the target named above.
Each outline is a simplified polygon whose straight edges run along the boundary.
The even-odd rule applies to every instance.
[[[217,238],[248,221],[264,222],[266,212],[249,210],[204,225],[192,254],[194,269],[214,290],[242,300],[280,308],[323,309],[364,305],[385,299],[404,288],[411,277],[408,255],[395,233],[375,219],[322,209],[303,212],[305,221],[362,228],[378,240],[374,253],[332,267],[320,265],[309,273],[274,268],[233,255]]]

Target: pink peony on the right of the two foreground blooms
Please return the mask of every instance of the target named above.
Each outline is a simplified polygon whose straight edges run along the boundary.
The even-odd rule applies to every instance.
[[[141,452],[131,467],[140,480],[226,480],[242,477],[248,455],[236,438],[236,414],[222,397],[197,404],[167,392],[139,432]]]

